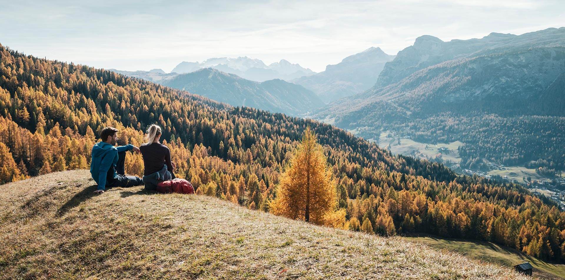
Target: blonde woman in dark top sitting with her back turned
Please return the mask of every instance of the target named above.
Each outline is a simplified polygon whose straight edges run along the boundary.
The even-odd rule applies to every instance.
[[[169,148],[159,143],[161,127],[157,124],[151,124],[146,132],[147,143],[140,146],[145,166],[143,182],[145,189],[155,191],[158,183],[175,178],[175,174],[173,174],[175,163],[171,162]]]

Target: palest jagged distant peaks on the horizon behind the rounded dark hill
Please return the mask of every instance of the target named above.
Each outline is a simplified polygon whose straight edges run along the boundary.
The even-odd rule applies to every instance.
[[[316,72],[303,68],[299,64],[293,64],[285,59],[279,62],[266,65],[260,59],[249,57],[238,58],[210,58],[203,62],[186,62],[179,63],[171,72],[178,74],[189,73],[201,68],[214,68],[229,74],[236,74],[244,79],[252,81],[266,81],[273,79],[281,79],[290,81],[302,76],[310,76]]]

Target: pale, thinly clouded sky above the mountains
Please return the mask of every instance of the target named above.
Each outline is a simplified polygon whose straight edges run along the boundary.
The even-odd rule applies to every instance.
[[[182,61],[286,59],[320,72],[371,46],[432,35],[520,35],[565,26],[565,1],[7,1],[0,44],[98,68],[169,72]]]

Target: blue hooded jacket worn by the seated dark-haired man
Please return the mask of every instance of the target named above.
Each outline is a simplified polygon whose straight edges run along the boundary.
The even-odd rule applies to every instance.
[[[118,153],[133,149],[133,145],[114,147],[106,142],[100,141],[92,147],[92,160],[90,160],[90,174],[92,179],[98,184],[98,189],[106,189],[106,176],[111,166],[116,178],[116,163],[118,163]]]

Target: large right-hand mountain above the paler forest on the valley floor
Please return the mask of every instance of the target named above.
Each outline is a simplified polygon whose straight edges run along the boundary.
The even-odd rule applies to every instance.
[[[402,108],[404,117],[475,110],[543,115],[547,112],[531,106],[551,102],[563,107],[563,96],[551,100],[544,92],[560,83],[564,72],[565,28],[450,42],[425,35],[386,63],[371,89],[336,101],[317,116],[340,117],[342,125],[369,123],[382,113],[372,108],[383,101]],[[554,113],[565,115],[565,110]],[[347,115],[351,118],[344,119]]]

